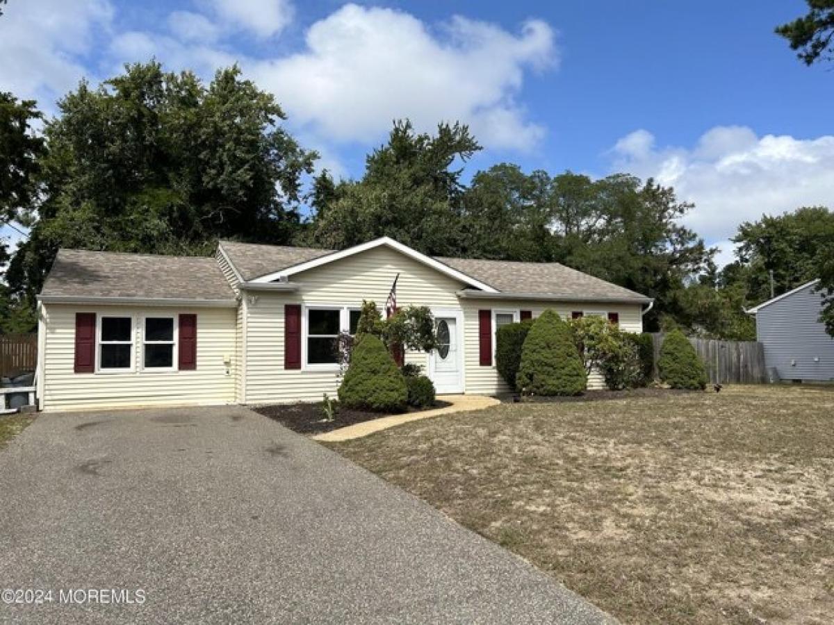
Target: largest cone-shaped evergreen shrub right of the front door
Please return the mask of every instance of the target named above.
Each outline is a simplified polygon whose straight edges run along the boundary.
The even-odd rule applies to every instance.
[[[552,310],[545,310],[521,348],[516,385],[527,395],[580,395],[586,384],[570,326]]]

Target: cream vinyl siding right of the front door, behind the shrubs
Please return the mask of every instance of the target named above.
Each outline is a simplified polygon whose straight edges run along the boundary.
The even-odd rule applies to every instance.
[[[552,308],[563,319],[570,319],[575,310],[596,313],[619,313],[620,328],[627,332],[643,331],[642,307],[639,304],[605,304],[605,303],[545,303],[520,302],[504,300],[462,300],[464,309],[464,362],[466,376],[466,393],[494,395],[509,393],[510,388],[501,378],[495,363],[491,367],[480,366],[480,341],[478,336],[479,310],[529,310],[533,317],[538,317],[546,308]],[[493,343],[495,349],[495,343]],[[599,373],[591,373],[588,388],[605,388],[605,382]]]

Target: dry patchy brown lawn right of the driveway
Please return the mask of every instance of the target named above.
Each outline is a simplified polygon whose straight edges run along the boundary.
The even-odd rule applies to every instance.
[[[834,388],[502,404],[333,447],[625,622],[834,615]]]

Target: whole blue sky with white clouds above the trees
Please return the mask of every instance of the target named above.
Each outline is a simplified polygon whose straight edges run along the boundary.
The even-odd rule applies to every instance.
[[[48,111],[82,76],[156,56],[239,62],[274,92],[322,166],[359,176],[394,117],[470,123],[469,173],[653,176],[696,203],[722,248],[761,213],[834,205],[834,74],[805,67],[776,24],[801,0],[753,2],[292,2],[10,0],[0,88]],[[5,32],[4,32],[5,31]]]

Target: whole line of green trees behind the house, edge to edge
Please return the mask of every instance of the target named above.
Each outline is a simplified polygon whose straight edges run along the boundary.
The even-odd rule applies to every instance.
[[[313,176],[318,155],[284,128],[273,95],[236,67],[208,84],[158,62],[81,82],[44,118],[0,93],[0,216],[28,229],[0,250],[0,330],[34,327],[58,248],[206,255],[220,238],[347,248],[389,236],[439,256],[564,263],[656,298],[646,329],[753,338],[744,308],[812,278],[834,286],[834,213],[744,223],[735,263],[682,225],[694,207],[628,173],[470,174],[470,129],[394,122],[356,180]],[[791,208],[791,207],[786,207]],[[834,332],[832,306],[826,315]]]

